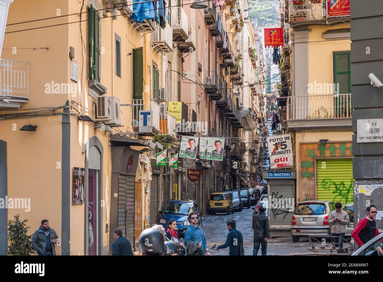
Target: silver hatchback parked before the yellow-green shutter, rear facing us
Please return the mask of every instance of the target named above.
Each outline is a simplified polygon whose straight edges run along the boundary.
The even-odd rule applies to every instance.
[[[296,205],[291,221],[291,237],[298,242],[310,234],[330,234],[329,214],[335,210],[331,201],[304,201]]]

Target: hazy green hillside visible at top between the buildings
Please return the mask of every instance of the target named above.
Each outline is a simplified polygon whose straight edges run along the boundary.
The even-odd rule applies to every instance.
[[[253,26],[258,23],[258,26],[265,26],[268,24],[277,24],[279,21],[279,13],[273,7],[278,4],[278,1],[258,1],[248,0],[249,2],[249,18]]]

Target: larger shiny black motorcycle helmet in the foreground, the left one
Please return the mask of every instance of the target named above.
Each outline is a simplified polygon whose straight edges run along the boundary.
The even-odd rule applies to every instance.
[[[154,228],[147,228],[141,232],[138,238],[138,245],[143,255],[165,254],[165,240],[161,231]]]

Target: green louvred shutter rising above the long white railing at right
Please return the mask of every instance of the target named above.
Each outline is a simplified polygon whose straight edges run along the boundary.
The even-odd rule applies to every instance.
[[[334,53],[334,83],[339,83],[338,94],[351,93],[350,52]]]

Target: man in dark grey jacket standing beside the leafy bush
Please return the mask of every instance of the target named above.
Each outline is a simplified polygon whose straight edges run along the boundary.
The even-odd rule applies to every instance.
[[[41,221],[41,226],[34,231],[32,236],[32,248],[39,256],[56,256],[55,246],[60,244],[56,231],[49,227],[46,219]]]

